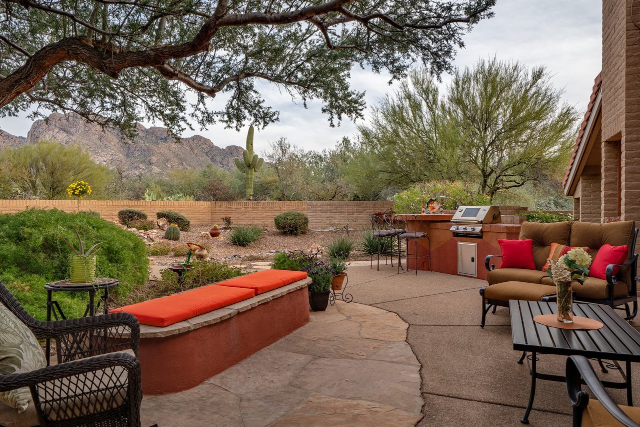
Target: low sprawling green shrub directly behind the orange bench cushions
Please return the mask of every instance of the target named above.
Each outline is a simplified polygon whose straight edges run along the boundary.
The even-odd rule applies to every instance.
[[[195,262],[193,268],[184,273],[182,286],[178,283],[178,275],[164,269],[160,279],[145,292],[136,294],[134,301],[145,301],[151,298],[175,294],[183,290],[195,289],[216,281],[242,276],[242,269],[217,261],[204,260]]]

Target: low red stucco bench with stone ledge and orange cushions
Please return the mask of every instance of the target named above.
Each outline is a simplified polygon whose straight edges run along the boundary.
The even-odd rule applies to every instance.
[[[265,270],[111,310],[140,321],[145,395],[191,389],[307,324],[306,272]]]

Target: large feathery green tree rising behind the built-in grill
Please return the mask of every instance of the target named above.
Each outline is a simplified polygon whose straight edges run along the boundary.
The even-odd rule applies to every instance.
[[[561,94],[544,67],[495,59],[457,71],[442,97],[426,71],[415,71],[360,133],[388,181],[475,182],[493,199],[566,166],[577,115]]]

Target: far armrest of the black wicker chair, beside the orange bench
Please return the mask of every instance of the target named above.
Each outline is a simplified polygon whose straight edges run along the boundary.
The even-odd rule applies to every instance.
[[[61,321],[38,322],[34,333],[38,339],[58,339],[67,344],[64,349],[73,353],[63,355],[60,362],[68,362],[77,358],[113,353],[123,349],[132,349],[138,356],[140,346],[140,324],[138,319],[130,313],[101,314],[79,319]],[[101,335],[98,341],[92,340],[90,348],[83,348],[88,336]],[[105,337],[106,336],[106,337]],[[90,351],[89,351],[90,350]]]

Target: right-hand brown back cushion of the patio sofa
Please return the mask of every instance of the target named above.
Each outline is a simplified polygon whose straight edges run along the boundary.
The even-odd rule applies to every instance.
[[[633,256],[634,248],[631,244],[634,239],[634,228],[636,223],[634,221],[618,221],[609,222],[607,224],[596,224],[595,222],[573,222],[571,226],[571,236],[569,238],[570,246],[587,246],[591,249],[589,255],[595,259],[598,249],[605,243],[611,246],[623,246],[629,247],[629,255],[627,260]],[[626,260],[625,260],[626,261]],[[629,282],[629,272],[627,269],[618,273],[618,278],[621,278],[625,282]],[[631,284],[629,283],[627,292],[630,290]]]

